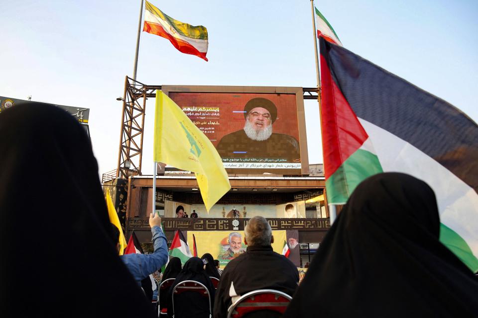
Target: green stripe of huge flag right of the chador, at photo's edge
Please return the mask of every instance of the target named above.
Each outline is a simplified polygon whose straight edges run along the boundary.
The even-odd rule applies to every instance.
[[[470,246],[461,236],[444,224],[440,224],[440,241],[474,273],[478,272],[478,259],[473,255]]]

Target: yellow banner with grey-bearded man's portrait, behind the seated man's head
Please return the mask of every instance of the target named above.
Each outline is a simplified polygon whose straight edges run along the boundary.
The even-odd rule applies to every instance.
[[[188,231],[188,244],[193,246],[193,234],[196,238],[198,256],[205,253],[213,255],[219,260],[221,268],[224,268],[232,259],[245,252],[247,245],[244,243],[244,231]],[[272,231],[274,242],[272,249],[282,253],[286,239],[285,231]]]

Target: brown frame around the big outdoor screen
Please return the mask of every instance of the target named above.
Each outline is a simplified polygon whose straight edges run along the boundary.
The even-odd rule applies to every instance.
[[[294,94],[297,107],[297,125],[299,130],[299,151],[301,172],[290,173],[293,175],[309,174],[309,155],[307,150],[307,133],[305,127],[305,109],[302,87],[290,86],[218,86],[218,85],[161,85],[161,90],[169,93],[256,93],[256,94]],[[241,173],[240,169],[232,170],[232,174]],[[249,172],[250,170],[247,170]],[[246,171],[244,171],[246,172]],[[259,171],[257,171],[259,172]],[[251,173],[248,173],[251,174]],[[288,173],[285,173],[288,174]]]

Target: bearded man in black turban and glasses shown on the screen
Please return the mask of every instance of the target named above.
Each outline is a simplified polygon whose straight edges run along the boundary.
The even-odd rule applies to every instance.
[[[266,98],[250,99],[244,106],[244,126],[221,138],[216,147],[221,158],[272,158],[299,162],[299,142],[273,132],[277,107]]]

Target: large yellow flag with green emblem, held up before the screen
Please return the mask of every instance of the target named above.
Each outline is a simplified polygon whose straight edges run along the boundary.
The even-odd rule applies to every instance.
[[[231,189],[228,174],[216,148],[161,90],[156,90],[153,160],[193,171],[206,210]]]

